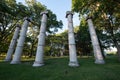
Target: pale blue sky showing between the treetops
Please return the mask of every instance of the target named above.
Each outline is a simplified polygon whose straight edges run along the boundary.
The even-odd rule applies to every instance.
[[[17,2],[23,2],[25,0],[16,0]],[[48,9],[50,9],[54,14],[56,14],[58,20],[62,20],[63,22],[63,29],[58,30],[58,33],[63,32],[64,30],[68,29],[68,22],[65,18],[66,11],[71,11],[72,0],[37,0],[45,5]],[[74,14],[73,16],[73,25],[79,25],[79,17],[78,14]]]

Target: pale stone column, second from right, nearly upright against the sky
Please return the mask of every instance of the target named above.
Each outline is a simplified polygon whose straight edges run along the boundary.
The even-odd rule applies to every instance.
[[[76,54],[76,45],[73,29],[73,13],[71,11],[66,12],[66,18],[68,19],[68,40],[69,40],[69,66],[79,66]]]

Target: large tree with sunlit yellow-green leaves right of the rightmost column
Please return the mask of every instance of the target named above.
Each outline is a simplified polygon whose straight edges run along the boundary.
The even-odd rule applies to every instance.
[[[109,2],[109,3],[108,3]],[[79,12],[80,15],[92,15],[94,18],[95,27],[101,33],[106,34],[103,40],[99,37],[105,45],[115,46],[118,50],[120,59],[120,3],[117,0],[72,0],[72,10]]]

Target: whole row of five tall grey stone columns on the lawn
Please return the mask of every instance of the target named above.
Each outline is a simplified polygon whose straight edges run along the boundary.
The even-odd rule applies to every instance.
[[[37,46],[37,52],[35,57],[35,62],[33,64],[34,67],[39,67],[44,65],[43,61],[43,55],[44,55],[44,46],[45,46],[45,32],[46,32],[46,24],[47,24],[47,18],[48,18],[48,11],[44,11],[41,13],[42,19],[41,19],[41,27],[40,27],[40,33],[39,33],[39,39],[38,39],[38,46]],[[74,29],[73,29],[73,13],[71,11],[66,12],[66,18],[68,20],[68,41],[69,41],[69,66],[77,67],[79,66],[79,63],[77,61],[77,53],[76,53],[76,44],[75,44],[75,38],[74,38]],[[94,56],[95,56],[95,63],[97,64],[104,64],[104,60],[101,54],[100,46],[98,43],[97,35],[92,23],[92,20],[90,17],[87,19],[88,25],[89,25],[89,32],[91,35],[93,50],[94,50]],[[21,55],[24,47],[24,41],[26,38],[26,32],[29,25],[29,22],[31,20],[29,18],[25,18],[25,21],[22,25],[22,29],[20,32],[20,37],[18,39],[17,47],[14,53],[14,57],[11,61],[11,64],[19,64],[21,63]],[[14,51],[18,34],[20,31],[20,26],[17,25],[16,27],[13,39],[11,41],[11,44],[9,46],[7,56],[5,58],[5,61],[10,61],[12,57],[12,53]]]

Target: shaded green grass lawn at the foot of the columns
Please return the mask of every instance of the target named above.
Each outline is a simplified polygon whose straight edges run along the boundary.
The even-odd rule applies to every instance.
[[[79,58],[79,67],[69,67],[68,58],[46,58],[42,67],[33,61],[11,65],[0,62],[0,80],[120,80],[120,63],[109,57],[106,64],[94,64],[93,58]]]

